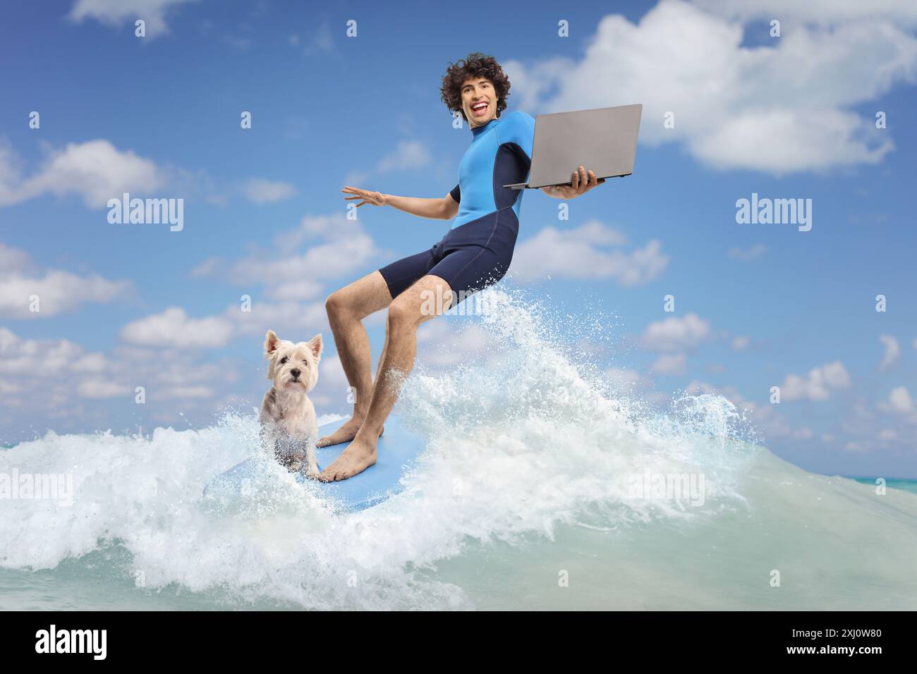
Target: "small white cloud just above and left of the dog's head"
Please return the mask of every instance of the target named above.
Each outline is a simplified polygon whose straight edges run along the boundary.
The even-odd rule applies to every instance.
[[[213,348],[226,344],[232,333],[233,326],[226,318],[190,318],[179,306],[121,328],[121,338],[128,344],[154,348]]]

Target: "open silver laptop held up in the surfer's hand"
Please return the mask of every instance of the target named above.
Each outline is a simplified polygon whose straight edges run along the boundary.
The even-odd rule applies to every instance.
[[[637,104],[536,116],[528,182],[503,187],[569,185],[578,166],[594,171],[597,178],[630,175],[642,112],[643,105]]]

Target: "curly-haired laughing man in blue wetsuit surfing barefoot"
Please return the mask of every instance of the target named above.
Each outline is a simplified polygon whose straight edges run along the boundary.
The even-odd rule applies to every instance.
[[[421,217],[448,220],[452,228],[433,248],[397,260],[350,283],[326,302],[337,354],[356,392],[353,415],[318,447],[352,440],[319,476],[346,480],[376,462],[376,442],[398,397],[398,387],[414,367],[416,332],[421,323],[447,311],[469,293],[500,281],[513,259],[524,190],[504,184],[525,182],[532,162],[535,119],[523,112],[501,117],[510,82],[491,56],[472,53],[450,64],[442,98],[471,127],[471,145],[458,165],[458,185],[439,199],[395,196],[345,187],[346,200],[391,205]],[[572,199],[604,182],[582,166],[570,185],[542,188]],[[458,217],[456,217],[458,215]],[[385,345],[376,381],[370,374],[370,339],[361,320],[389,307]],[[430,307],[435,307],[431,311]]]

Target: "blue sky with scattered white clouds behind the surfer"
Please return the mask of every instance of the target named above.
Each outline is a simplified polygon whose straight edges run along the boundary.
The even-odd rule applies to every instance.
[[[805,468],[917,477],[917,134],[905,122],[917,12],[794,5],[6,7],[0,439],[199,427],[249,409],[269,326],[326,336],[314,399],[345,413],[326,294],[449,224],[370,206],[348,221],[339,189],[447,193],[471,136],[453,128],[441,78],[481,50],[513,83],[509,111],[645,105],[633,176],[567,202],[567,221],[557,200],[525,194],[508,287],[584,323],[616,315],[611,340],[583,348],[641,398],[718,392]],[[182,198],[182,231],[110,224],[105,202],[123,191]],[[812,230],[737,224],[752,193],[812,199]],[[245,293],[257,317],[238,312]],[[382,319],[368,322],[377,356]],[[442,324],[423,328],[420,359],[466,329]],[[458,337],[475,348],[473,326]],[[137,381],[147,405],[133,402]]]

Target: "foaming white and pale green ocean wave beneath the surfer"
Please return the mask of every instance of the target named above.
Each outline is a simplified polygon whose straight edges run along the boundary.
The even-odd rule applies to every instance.
[[[257,446],[251,414],[49,432],[0,453],[0,474],[69,474],[72,503],[2,503],[0,568],[76,565],[222,607],[913,608],[917,496],[791,466],[721,396],[647,404],[576,362],[563,320],[487,293],[485,315],[437,319],[481,326],[481,358],[404,383],[395,412],[425,451],[381,505],[342,512],[279,467],[240,507],[207,503]]]

